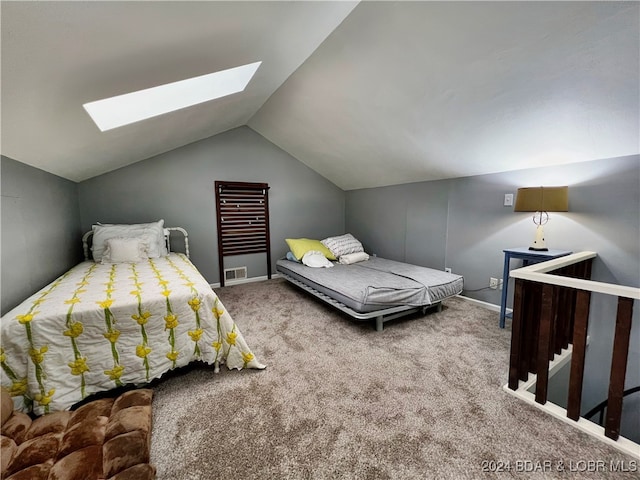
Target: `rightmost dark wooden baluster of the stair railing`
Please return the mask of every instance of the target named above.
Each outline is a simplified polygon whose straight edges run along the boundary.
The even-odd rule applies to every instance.
[[[624,392],[624,377],[627,373],[632,315],[633,300],[631,298],[618,297],[616,332],[613,338],[613,357],[611,359],[611,376],[609,377],[609,401],[604,427],[604,434],[612,440],[617,440],[620,436],[622,395]]]

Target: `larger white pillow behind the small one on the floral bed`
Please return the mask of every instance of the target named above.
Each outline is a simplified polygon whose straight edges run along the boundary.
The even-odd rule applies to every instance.
[[[93,225],[93,261],[102,261],[102,255],[106,248],[105,242],[110,238],[142,238],[147,243],[147,255],[149,258],[164,257],[168,254],[164,238],[164,220],[152,223],[102,224]]]

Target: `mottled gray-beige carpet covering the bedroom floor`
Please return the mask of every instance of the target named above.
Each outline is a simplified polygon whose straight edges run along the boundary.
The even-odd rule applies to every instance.
[[[452,298],[376,332],[282,279],[217,293],[267,369],[159,382],[158,479],[638,478],[609,471],[632,458],[502,391],[495,312]],[[570,471],[588,461],[606,467]]]

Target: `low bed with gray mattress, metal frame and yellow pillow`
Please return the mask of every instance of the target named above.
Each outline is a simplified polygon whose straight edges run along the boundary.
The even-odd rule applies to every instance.
[[[441,308],[464,285],[460,275],[369,256],[349,234],[322,241],[287,239],[287,244],[291,252],[276,262],[280,275],[357,320],[375,319],[378,331],[388,320]],[[320,253],[326,257],[324,265],[306,261]]]

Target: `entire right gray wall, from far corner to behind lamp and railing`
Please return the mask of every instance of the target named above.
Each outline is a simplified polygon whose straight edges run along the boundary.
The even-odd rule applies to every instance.
[[[550,248],[595,251],[594,280],[640,286],[638,155],[349,191],[346,229],[362,237],[371,253],[438,269],[451,267],[465,278],[464,295],[499,305],[500,290],[486,287],[489,277],[502,277],[502,250],[528,246],[535,232],[531,214],[503,206],[504,194],[538,185],[569,185],[570,211],[551,213],[545,226]],[[511,282],[510,292],[512,287]],[[640,384],[639,312],[636,305],[627,388]],[[583,393],[586,410],[607,395],[615,313],[615,299],[594,295]],[[497,324],[496,313],[496,328]]]

